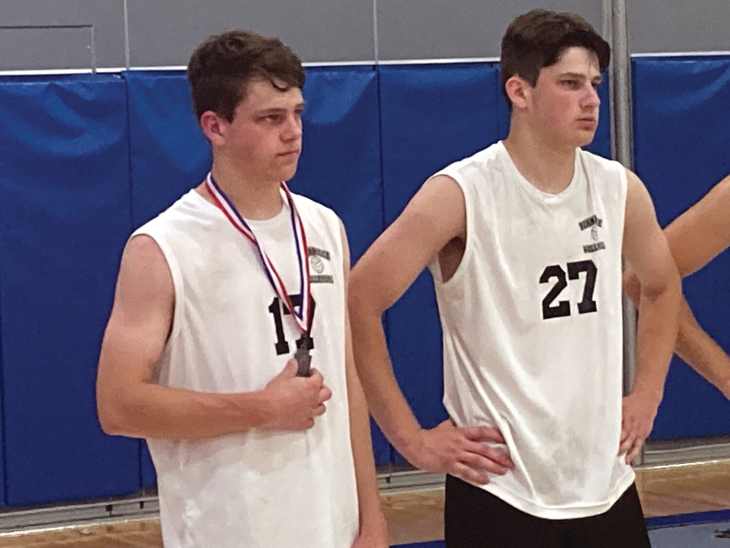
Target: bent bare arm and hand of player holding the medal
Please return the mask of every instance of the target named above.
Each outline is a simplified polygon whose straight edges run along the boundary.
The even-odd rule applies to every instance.
[[[313,385],[320,379],[293,378],[293,363],[257,392],[213,394],[154,384],[153,369],[171,329],[173,310],[172,275],[162,251],[151,237],[134,237],[123,254],[99,357],[96,404],[106,433],[196,440],[255,427],[298,429],[314,424],[315,412],[306,416],[306,405],[299,408],[298,420],[285,419],[295,413],[289,406],[292,400],[311,401],[305,396],[312,393],[314,399],[319,397]],[[319,404],[315,408],[316,414],[324,412]]]

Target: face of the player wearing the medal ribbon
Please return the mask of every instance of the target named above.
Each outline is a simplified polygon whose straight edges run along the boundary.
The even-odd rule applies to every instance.
[[[252,179],[289,180],[301,154],[303,111],[299,88],[279,91],[268,80],[250,81],[233,121],[220,119],[220,148]]]

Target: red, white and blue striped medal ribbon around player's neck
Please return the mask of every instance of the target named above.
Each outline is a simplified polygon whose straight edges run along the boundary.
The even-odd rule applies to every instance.
[[[291,197],[291,192],[286,186],[286,183],[281,183],[281,188],[284,191],[287,201],[289,202],[289,209],[291,210],[291,227],[294,232],[294,243],[296,245],[296,258],[299,262],[299,302],[301,305],[296,310],[294,305],[289,298],[289,293],[284,286],[284,282],[280,278],[279,274],[274,268],[269,256],[266,255],[266,251],[261,248],[261,244],[258,243],[253,230],[246,224],[244,218],[238,213],[238,210],[233,205],[226,194],[220,189],[212,173],[208,173],[205,179],[205,187],[207,188],[210,196],[218,206],[218,209],[223,211],[223,214],[231,221],[236,229],[241,232],[242,235],[248,238],[251,243],[255,246],[258,251],[258,256],[261,258],[261,264],[264,266],[264,273],[269,278],[269,283],[272,284],[274,292],[279,296],[280,300],[284,303],[289,313],[296,320],[299,325],[301,332],[306,333],[310,330],[310,308],[312,305],[312,294],[310,292],[310,264],[307,260],[307,237],[304,235],[304,225],[301,223],[301,217],[299,212],[296,210],[294,200]]]

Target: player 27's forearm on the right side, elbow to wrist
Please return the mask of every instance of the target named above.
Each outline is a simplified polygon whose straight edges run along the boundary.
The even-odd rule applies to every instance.
[[[661,292],[642,289],[637,325],[637,368],[633,392],[656,401],[664,393],[664,380],[677,341],[680,305],[679,278],[672,277]]]

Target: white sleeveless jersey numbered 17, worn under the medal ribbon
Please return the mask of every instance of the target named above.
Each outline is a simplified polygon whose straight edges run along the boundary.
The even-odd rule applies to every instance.
[[[349,548],[356,539],[339,219],[310,199],[296,194],[293,199],[309,246],[312,367],[332,390],[327,411],[306,432],[148,439],[166,548]],[[298,305],[288,204],[269,221],[248,222]],[[300,332],[253,244],[196,191],[134,233],[139,234],[158,243],[174,283],[172,332],[158,383],[199,392],[264,388],[293,357]]]

